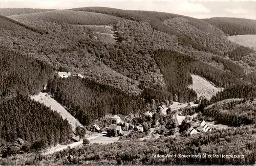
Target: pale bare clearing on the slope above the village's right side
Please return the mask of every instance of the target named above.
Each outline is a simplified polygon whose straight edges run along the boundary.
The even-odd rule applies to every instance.
[[[197,97],[204,96],[207,100],[210,100],[217,92],[222,91],[223,88],[217,87],[214,83],[207,81],[205,78],[191,75],[193,79],[193,85],[189,88],[194,89],[197,92]]]

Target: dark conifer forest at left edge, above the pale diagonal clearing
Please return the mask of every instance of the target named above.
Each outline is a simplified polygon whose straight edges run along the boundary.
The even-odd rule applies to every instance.
[[[53,75],[53,67],[29,58],[17,51],[0,47],[0,102],[15,97],[38,93]]]

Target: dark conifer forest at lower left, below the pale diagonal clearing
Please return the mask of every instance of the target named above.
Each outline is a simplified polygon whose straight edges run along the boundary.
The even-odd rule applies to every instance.
[[[72,130],[67,120],[63,120],[56,111],[22,94],[2,102],[0,111],[2,153],[8,151],[4,143],[14,143],[18,138],[27,142],[26,148],[36,150],[65,143],[70,139]],[[19,150],[28,151],[20,148],[16,152]]]

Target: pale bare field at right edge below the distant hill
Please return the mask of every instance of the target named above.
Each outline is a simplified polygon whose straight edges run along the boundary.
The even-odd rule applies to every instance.
[[[248,46],[254,50],[256,49],[256,35],[228,36],[227,39],[239,45]]]

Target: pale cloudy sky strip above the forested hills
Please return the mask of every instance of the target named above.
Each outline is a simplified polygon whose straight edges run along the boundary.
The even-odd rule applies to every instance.
[[[211,2],[210,2],[211,1]],[[235,1],[35,1],[27,0],[13,1],[0,0],[0,8],[47,8],[47,9],[70,9],[78,7],[110,7],[125,10],[147,10],[186,15],[195,18],[210,17],[238,17],[256,19],[255,2],[235,2]]]

